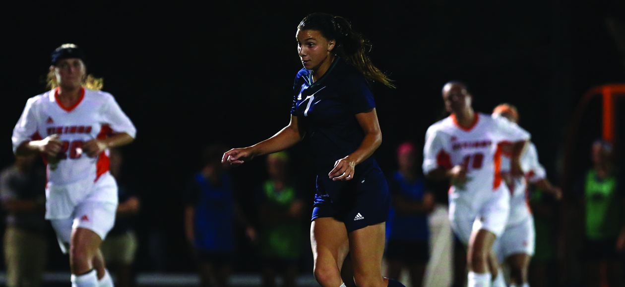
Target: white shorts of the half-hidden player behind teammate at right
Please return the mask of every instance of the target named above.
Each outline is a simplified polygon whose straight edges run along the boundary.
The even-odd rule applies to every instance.
[[[534,217],[529,216],[521,223],[506,226],[501,238],[497,238],[492,250],[497,254],[500,262],[511,255],[522,253],[534,255],[536,246],[536,231],[534,231]]]

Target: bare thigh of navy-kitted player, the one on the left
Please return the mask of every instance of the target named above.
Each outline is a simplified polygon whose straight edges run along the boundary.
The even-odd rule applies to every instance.
[[[315,218],[311,222],[311,248],[315,268],[341,266],[349,252],[345,224],[332,217]]]

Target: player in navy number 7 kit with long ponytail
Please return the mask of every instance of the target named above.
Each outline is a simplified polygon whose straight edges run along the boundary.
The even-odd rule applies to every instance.
[[[367,42],[342,17],[310,14],[296,37],[304,69],[295,77],[290,124],[259,144],[224,153],[222,160],[239,165],[308,139],[317,173],[311,223],[317,282],[342,286],[340,269],[349,252],[357,286],[401,286],[381,273],[390,197],[371,157],[382,135],[367,80],[392,85],[371,64]]]

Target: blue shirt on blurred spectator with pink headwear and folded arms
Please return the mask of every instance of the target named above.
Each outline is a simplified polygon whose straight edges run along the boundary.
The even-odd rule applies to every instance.
[[[426,188],[422,178],[417,178],[414,182],[407,182],[404,175],[397,171],[393,173],[388,182],[392,195],[401,195],[412,202],[423,202]],[[386,231],[389,240],[427,241],[429,240],[427,215],[424,213],[400,215],[391,206],[389,220],[386,222]]]

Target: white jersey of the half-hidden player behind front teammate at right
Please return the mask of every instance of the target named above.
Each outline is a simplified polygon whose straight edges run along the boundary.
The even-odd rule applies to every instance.
[[[512,195],[507,225],[516,225],[531,216],[531,211],[527,206],[527,183],[534,183],[545,178],[546,172],[541,163],[538,162],[536,146],[532,143],[526,145],[521,158],[519,158],[525,177],[510,177],[510,154],[503,153],[503,155],[501,159],[501,173]]]

